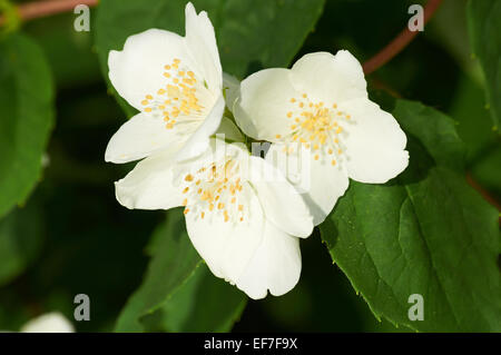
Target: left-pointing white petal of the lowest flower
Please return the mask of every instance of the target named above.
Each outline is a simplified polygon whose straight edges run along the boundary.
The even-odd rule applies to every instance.
[[[169,209],[181,206],[181,188],[176,186],[175,150],[166,150],[139,161],[125,178],[115,183],[117,200],[127,208]]]

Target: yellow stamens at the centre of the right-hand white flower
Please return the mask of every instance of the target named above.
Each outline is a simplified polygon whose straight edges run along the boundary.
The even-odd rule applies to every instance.
[[[323,151],[332,156],[331,164],[336,165],[343,154],[343,134],[351,116],[338,109],[337,103],[325,105],[310,100],[306,93],[299,98],[292,98],[294,109],[288,111],[287,118],[292,120],[291,132],[284,137],[287,141],[301,142],[307,149]],[[282,138],[279,135],[276,138]],[[286,149],[286,148],[285,148]],[[315,160],[320,155],[315,154]]]

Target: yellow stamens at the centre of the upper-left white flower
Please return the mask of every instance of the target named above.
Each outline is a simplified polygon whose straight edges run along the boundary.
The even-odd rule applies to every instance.
[[[179,117],[200,116],[204,106],[199,103],[200,95],[207,90],[189,68],[181,65],[180,59],[164,67],[167,85],[156,93],[148,93],[141,101],[145,112],[163,117],[166,128],[173,129]],[[189,122],[189,119],[184,119]],[[193,121],[193,120],[191,120]]]

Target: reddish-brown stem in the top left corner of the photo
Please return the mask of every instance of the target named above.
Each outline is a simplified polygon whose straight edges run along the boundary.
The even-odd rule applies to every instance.
[[[75,9],[78,4],[95,7],[99,0],[46,0],[20,4],[18,13],[21,20],[31,20],[50,14],[66,12]],[[0,17],[0,26],[3,24],[4,18]]]

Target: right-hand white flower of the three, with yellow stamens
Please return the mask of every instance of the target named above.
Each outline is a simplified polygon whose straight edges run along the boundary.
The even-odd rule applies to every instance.
[[[294,161],[311,154],[306,203],[322,223],[348,177],[385,183],[409,164],[406,137],[392,115],[367,98],[360,62],[347,51],[310,53],[292,69],[265,69],[242,81],[234,105],[243,131],[272,141],[266,158]]]

